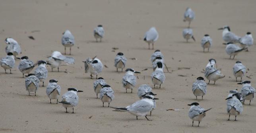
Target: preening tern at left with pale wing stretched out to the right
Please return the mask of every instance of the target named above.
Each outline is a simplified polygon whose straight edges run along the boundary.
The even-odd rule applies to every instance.
[[[60,52],[54,51],[52,52],[52,56],[48,57],[47,63],[50,64],[50,67],[56,68],[58,67],[59,72],[59,66],[62,62],[66,62],[66,64],[75,64],[75,59],[73,57],[67,57],[63,56]]]

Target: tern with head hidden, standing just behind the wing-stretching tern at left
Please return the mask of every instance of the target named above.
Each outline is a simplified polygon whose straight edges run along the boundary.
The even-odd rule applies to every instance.
[[[70,48],[69,55],[71,55],[71,47],[74,46],[75,39],[69,30],[66,30],[63,33],[61,42],[62,42],[62,45],[65,47],[65,54],[66,54],[66,47],[69,47]]]

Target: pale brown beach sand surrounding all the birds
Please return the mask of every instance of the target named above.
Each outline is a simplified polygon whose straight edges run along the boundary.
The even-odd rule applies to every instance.
[[[47,60],[45,56],[53,51],[64,52],[61,45],[62,33],[69,29],[76,40],[72,48],[72,57],[76,63],[60,67],[61,72],[50,72],[48,79],[57,79],[62,87],[61,95],[68,87],[83,90],[79,93],[79,104],[75,114],[65,113],[61,104],[50,104],[45,94],[45,87],[40,87],[38,96],[28,96],[25,91],[25,79],[15,68],[13,74],[5,74],[0,69],[0,132],[30,132],[30,133],[76,133],[76,132],[113,132],[113,133],[164,133],[164,132],[196,132],[196,133],[252,133],[255,131],[256,102],[244,106],[244,112],[237,117],[238,121],[227,121],[226,101],[228,91],[241,89],[235,82],[232,67],[240,60],[249,68],[244,80],[252,81],[255,87],[256,47],[250,52],[242,52],[235,60],[228,60],[225,46],[222,44],[222,31],[217,28],[229,25],[231,31],[239,36],[246,32],[256,34],[255,0],[5,0],[0,4],[0,40],[2,40],[1,57],[5,57],[4,39],[13,37],[22,48],[22,55],[29,56],[33,61]],[[196,19],[191,26],[194,30],[196,42],[189,43],[182,38],[184,23],[183,13],[191,7],[196,13]],[[98,24],[105,28],[103,42],[96,43],[93,29]],[[143,41],[145,31],[155,26],[159,32],[159,39],[155,49],[160,49],[165,56],[165,62],[172,73],[165,73],[166,81],[161,89],[153,89],[157,94],[157,109],[148,118],[136,120],[135,116],[126,112],[113,112],[111,108],[103,108],[102,102],[96,99],[93,91],[95,79],[89,79],[84,73],[83,63],[87,57],[97,57],[109,68],[104,68],[99,75],[115,91],[115,99],[111,106],[127,106],[139,100],[137,89],[134,93],[125,93],[121,78],[124,73],[115,72],[114,57],[117,52],[124,52],[128,60],[127,67],[137,71],[148,68],[138,75],[138,88],[142,84],[151,83],[152,73],[150,56],[154,50],[148,50]],[[40,32],[31,33],[33,30]],[[203,53],[200,40],[204,34],[213,39],[213,46],[209,53]],[[35,40],[28,36],[32,35]],[[112,47],[119,50],[112,51]],[[173,59],[172,59],[173,58]],[[196,77],[204,77],[209,58],[217,60],[218,68],[226,75],[216,85],[208,85],[208,93],[204,100],[196,100],[192,94],[192,83]],[[16,66],[19,61],[16,60]],[[178,69],[189,67],[190,69]],[[64,73],[65,69],[72,73]],[[178,75],[186,75],[180,77]],[[145,76],[145,80],[143,77]],[[187,104],[199,102],[210,110],[200,127],[192,127],[192,120],[188,118]],[[180,111],[166,111],[167,108],[184,109]],[[71,111],[71,110],[69,110]],[[233,116],[231,117],[233,120]],[[197,122],[195,122],[197,125]]]

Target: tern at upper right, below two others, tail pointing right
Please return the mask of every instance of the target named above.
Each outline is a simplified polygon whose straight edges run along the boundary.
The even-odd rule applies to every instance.
[[[231,59],[231,56],[233,56],[233,60],[235,56],[240,53],[242,50],[245,50],[245,48],[240,48],[236,44],[233,44],[232,42],[228,42],[226,46],[226,53],[230,55],[229,60]]]

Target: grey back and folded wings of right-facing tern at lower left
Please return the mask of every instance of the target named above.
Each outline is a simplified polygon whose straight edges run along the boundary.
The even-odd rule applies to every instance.
[[[62,102],[69,102],[71,105],[77,106],[78,101],[79,101],[78,95],[76,95],[70,91],[68,91],[62,95]]]

